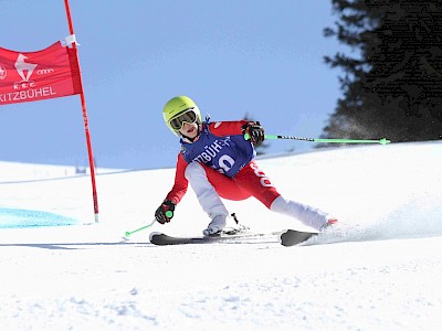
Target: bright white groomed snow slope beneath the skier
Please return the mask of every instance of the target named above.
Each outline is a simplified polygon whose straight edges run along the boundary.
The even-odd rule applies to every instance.
[[[191,190],[170,224],[124,241],[152,221],[172,169],[99,174],[101,223],[82,225],[93,220],[88,177],[30,180],[0,162],[0,329],[440,330],[441,156],[428,142],[260,160],[286,197],[340,221],[291,248],[150,245],[150,232],[207,225]],[[253,200],[227,204],[256,232],[302,228]],[[7,226],[14,211],[22,223]],[[77,225],[31,226],[48,225],[32,215]]]

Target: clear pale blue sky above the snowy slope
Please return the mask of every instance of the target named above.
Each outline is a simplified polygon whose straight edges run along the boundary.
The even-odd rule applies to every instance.
[[[317,138],[340,96],[323,62],[328,0],[71,0],[97,167],[173,167],[162,106],[188,95],[213,120]],[[69,35],[63,0],[1,0],[0,46],[40,51]],[[338,138],[338,137],[336,137]],[[267,153],[312,142],[270,141]],[[87,166],[80,96],[0,107],[0,160]]]

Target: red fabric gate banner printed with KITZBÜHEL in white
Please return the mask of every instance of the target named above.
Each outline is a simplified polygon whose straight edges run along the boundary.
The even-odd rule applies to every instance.
[[[28,53],[0,47],[0,106],[81,93],[75,47],[61,42]]]

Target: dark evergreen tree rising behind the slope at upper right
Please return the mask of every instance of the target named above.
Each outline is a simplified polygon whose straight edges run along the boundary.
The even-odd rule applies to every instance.
[[[440,139],[442,1],[332,0],[339,17],[324,30],[352,49],[325,56],[339,67],[344,97],[323,138]]]

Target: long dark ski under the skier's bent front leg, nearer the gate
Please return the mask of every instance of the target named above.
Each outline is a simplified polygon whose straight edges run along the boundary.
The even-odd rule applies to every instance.
[[[250,243],[265,243],[265,237],[274,237],[278,233],[266,233],[266,234],[256,234],[256,233],[235,233],[228,234],[223,233],[218,236],[196,236],[196,237],[175,237],[169,236],[167,234],[160,232],[154,232],[149,236],[149,241],[151,244],[157,246],[168,246],[168,245],[189,245],[189,244],[213,244],[213,243],[223,243],[223,244],[250,244]],[[264,239],[264,241],[263,241]],[[274,243],[275,241],[273,241]]]

